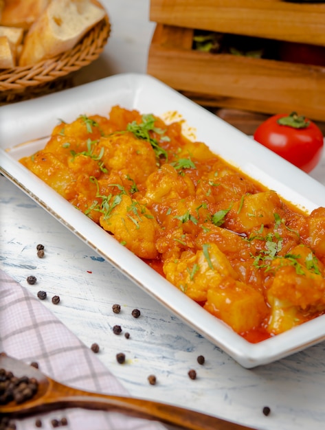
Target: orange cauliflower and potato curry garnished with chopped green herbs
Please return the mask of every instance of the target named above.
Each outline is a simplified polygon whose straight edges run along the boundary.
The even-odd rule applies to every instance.
[[[325,312],[325,208],[298,210],[181,122],[114,106],[20,161],[249,342]]]

